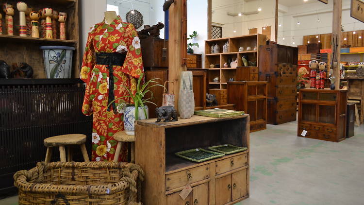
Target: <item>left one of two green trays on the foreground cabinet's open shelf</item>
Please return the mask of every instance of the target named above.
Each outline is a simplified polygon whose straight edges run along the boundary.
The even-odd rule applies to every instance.
[[[193,161],[193,162],[204,162],[210,159],[222,157],[225,154],[204,150],[202,148],[196,148],[175,153],[177,156]]]

